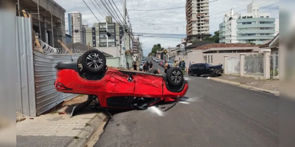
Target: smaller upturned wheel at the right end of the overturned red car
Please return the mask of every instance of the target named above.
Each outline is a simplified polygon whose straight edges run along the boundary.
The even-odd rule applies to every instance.
[[[181,69],[172,67],[166,73],[167,82],[173,86],[179,86],[183,82],[183,74]]]

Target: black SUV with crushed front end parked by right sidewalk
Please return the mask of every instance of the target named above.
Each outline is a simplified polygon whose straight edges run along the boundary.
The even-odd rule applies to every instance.
[[[223,74],[222,65],[211,65],[208,63],[196,63],[189,66],[189,76],[209,75],[210,77],[221,76]]]

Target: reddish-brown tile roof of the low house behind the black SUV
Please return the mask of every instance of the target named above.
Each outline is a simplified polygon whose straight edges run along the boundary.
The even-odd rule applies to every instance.
[[[193,50],[204,50],[210,48],[228,48],[228,47],[259,47],[260,45],[252,44],[241,44],[241,43],[232,43],[232,44],[205,44],[194,48]]]

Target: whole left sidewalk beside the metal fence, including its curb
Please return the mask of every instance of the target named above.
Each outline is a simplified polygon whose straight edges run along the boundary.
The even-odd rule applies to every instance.
[[[84,147],[93,131],[106,121],[103,113],[89,109],[70,116],[72,107],[86,99],[87,96],[78,96],[57,106],[57,111],[17,122],[17,146]]]

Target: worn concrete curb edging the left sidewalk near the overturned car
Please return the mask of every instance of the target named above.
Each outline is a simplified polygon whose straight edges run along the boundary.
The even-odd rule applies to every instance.
[[[77,136],[79,139],[73,139],[67,147],[85,147],[91,136],[98,128],[104,128],[107,124],[108,116],[104,113],[98,113],[92,120],[88,122],[90,126],[86,126]]]

